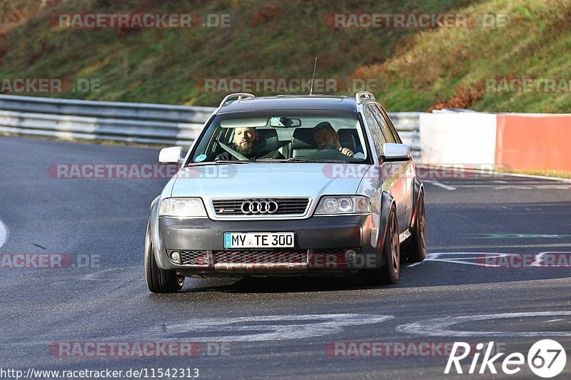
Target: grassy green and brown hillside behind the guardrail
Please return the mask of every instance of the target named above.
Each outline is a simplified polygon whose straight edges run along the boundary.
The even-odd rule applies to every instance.
[[[37,1],[0,6],[0,78],[96,78],[47,96],[213,106],[208,78],[369,80],[390,111],[570,112],[571,93],[486,93],[486,79],[570,78],[570,0]],[[70,29],[59,13],[230,14],[227,28]],[[506,14],[498,28],[333,29],[333,13]],[[344,83],[345,83],[344,82]],[[345,93],[347,88],[339,88]],[[31,94],[34,95],[34,94]],[[38,94],[46,96],[46,94]]]

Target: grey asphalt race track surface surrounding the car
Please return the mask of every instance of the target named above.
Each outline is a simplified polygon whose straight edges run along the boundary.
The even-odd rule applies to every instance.
[[[570,268],[545,267],[541,259],[541,252],[571,252],[570,182],[440,178],[423,170],[429,255],[403,267],[396,286],[187,279],[183,292],[159,295],[146,288],[143,241],[149,205],[166,179],[64,179],[49,170],[155,163],[158,149],[2,137],[0,157],[7,230],[1,245],[0,227],[1,370],[147,369],[151,378],[152,369],[176,367],[198,369],[206,379],[441,379],[448,355],[438,344],[447,342],[496,342],[500,351],[527,356],[532,344],[550,338],[571,354]],[[50,257],[71,265],[11,267],[22,254],[56,254]],[[525,257],[539,266],[517,267]],[[200,351],[125,357],[108,348],[119,342],[129,349],[197,342]],[[368,342],[390,349],[371,355]],[[86,352],[96,343],[108,348],[106,356]],[[419,354],[420,343],[433,349]],[[463,372],[474,357],[461,361]],[[479,376],[510,377],[502,374],[504,357],[495,362],[499,374]],[[560,376],[570,375],[571,359]],[[511,377],[534,376],[524,364]]]

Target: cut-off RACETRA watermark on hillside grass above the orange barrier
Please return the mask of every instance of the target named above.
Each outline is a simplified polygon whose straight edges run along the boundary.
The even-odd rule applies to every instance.
[[[487,78],[486,93],[570,93],[571,78]]]

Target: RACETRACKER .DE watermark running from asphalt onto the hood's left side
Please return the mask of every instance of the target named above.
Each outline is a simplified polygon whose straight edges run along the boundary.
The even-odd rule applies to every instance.
[[[58,180],[120,179],[165,180],[211,178],[228,179],[236,175],[232,165],[208,165],[180,168],[178,165],[151,163],[53,163],[48,167],[49,178]]]

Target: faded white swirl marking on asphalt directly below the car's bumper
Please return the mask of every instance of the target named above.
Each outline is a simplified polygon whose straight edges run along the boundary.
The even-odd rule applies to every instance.
[[[251,317],[217,317],[188,319],[182,324],[143,329],[135,334],[110,337],[110,340],[185,339],[193,342],[259,342],[284,339],[307,339],[338,334],[350,327],[376,324],[392,315],[374,314],[286,314]]]

